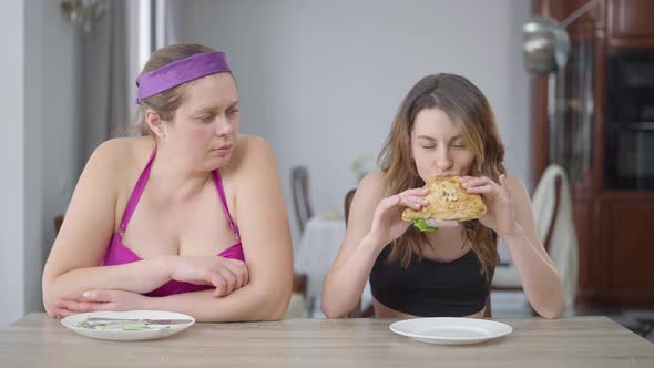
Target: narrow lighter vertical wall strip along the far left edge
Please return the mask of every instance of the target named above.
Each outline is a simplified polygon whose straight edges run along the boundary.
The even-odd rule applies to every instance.
[[[11,1],[0,12],[0,58],[3,88],[0,89],[0,327],[24,310],[22,290],[24,243],[24,8]]]

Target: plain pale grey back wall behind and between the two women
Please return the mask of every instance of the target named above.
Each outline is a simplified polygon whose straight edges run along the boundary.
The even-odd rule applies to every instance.
[[[520,50],[529,1],[184,4],[181,41],[227,51],[242,130],[275,149],[289,209],[290,167],[302,164],[316,209],[343,211],[357,184],[352,160],[378,154],[401,99],[429,73],[466,75],[487,94],[508,143],[508,167],[529,178],[529,80]]]

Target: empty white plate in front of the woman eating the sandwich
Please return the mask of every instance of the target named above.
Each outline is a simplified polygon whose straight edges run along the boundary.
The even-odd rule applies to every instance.
[[[513,328],[488,319],[433,317],[400,320],[390,330],[422,343],[466,345],[509,335]]]

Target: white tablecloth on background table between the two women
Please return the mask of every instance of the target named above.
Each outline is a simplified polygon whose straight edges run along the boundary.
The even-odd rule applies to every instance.
[[[320,216],[310,218],[295,252],[295,272],[307,275],[307,314],[309,317],[323,316],[320,309],[320,295],[323,280],[334,264],[340,244],[345,238],[345,221],[343,218],[324,218]],[[372,300],[370,287],[361,297],[364,305]]]

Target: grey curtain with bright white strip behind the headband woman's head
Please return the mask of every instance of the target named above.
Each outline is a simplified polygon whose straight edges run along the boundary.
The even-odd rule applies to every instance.
[[[139,55],[178,42],[180,0],[112,0],[109,9],[82,34],[79,172],[95,147],[108,139],[139,134],[135,80],[143,65]],[[145,12],[145,13],[140,13]],[[153,16],[153,17],[151,17]],[[144,18],[152,19],[145,31]],[[152,40],[154,42],[139,42]],[[139,50],[147,48],[149,50]]]

